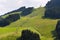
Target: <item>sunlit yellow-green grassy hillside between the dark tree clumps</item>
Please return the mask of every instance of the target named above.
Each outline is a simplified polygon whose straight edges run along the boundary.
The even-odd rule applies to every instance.
[[[56,28],[57,20],[54,19],[43,19],[45,8],[34,9],[33,12],[27,16],[21,16],[19,20],[11,23],[10,25],[0,28],[0,35],[5,35],[6,33],[14,34],[14,37],[8,38],[7,36],[2,37],[1,40],[16,40],[19,33],[22,30],[29,29],[33,32],[37,32],[41,37],[41,40],[53,40],[54,35],[52,32]],[[20,12],[14,12],[20,13]],[[8,15],[3,16],[3,18]],[[10,36],[12,35],[10,34]],[[9,36],[9,35],[8,35]],[[16,37],[15,37],[16,36]],[[1,36],[0,36],[1,37]]]

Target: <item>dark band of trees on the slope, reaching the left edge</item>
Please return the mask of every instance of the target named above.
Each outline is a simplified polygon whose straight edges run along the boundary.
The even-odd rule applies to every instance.
[[[18,19],[20,19],[20,15],[19,14],[9,15],[5,19],[1,18],[1,20],[0,20],[0,27],[7,26],[7,25],[9,25],[12,22],[17,21]]]

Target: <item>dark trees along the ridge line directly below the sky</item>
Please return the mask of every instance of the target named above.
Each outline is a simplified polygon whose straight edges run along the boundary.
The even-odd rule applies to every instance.
[[[23,7],[20,7],[19,9],[16,9],[16,10],[6,13],[5,15],[11,14],[14,12],[21,12],[20,13],[21,16],[26,16],[26,15],[30,14],[33,11],[33,9],[34,9],[33,7],[26,8],[25,6],[23,6]]]

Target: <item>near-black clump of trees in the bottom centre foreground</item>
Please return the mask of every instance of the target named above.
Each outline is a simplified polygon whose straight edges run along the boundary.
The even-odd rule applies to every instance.
[[[21,37],[17,40],[40,40],[40,37],[37,33],[33,33],[29,30],[23,30]]]

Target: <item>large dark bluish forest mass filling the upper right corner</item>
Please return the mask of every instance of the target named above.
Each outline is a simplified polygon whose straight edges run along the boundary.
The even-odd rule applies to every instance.
[[[43,18],[60,19],[60,0],[51,0],[45,6]]]

